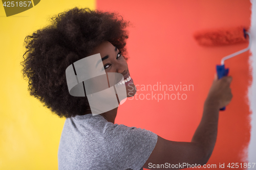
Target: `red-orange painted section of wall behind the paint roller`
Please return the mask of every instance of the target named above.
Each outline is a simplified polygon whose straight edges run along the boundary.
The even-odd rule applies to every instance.
[[[193,34],[203,29],[249,27],[250,8],[249,0],[97,0],[97,9],[119,12],[135,26],[129,28],[127,52],[131,77],[139,90],[141,85],[157,82],[194,85],[194,91],[166,91],[185,93],[186,100],[129,99],[119,107],[115,123],[145,128],[168,140],[190,141],[201,120],[216,64],[220,64],[222,57],[248,45],[203,47]],[[247,88],[251,81],[248,58],[246,52],[225,63],[233,77],[233,99],[226,111],[220,112],[217,143],[207,164],[218,167],[219,163],[247,161],[244,153],[250,138]],[[137,99],[147,93],[150,93],[148,98],[152,96],[152,91],[137,91]]]

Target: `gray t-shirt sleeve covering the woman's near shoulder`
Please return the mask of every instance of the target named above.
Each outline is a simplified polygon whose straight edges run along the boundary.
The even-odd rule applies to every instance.
[[[157,143],[157,134],[135,127],[112,124],[105,129],[105,147],[113,169],[140,170]]]

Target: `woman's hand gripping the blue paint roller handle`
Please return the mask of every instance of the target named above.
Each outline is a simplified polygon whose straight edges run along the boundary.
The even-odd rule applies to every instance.
[[[217,104],[220,109],[228,105],[233,96],[230,89],[231,81],[232,77],[230,76],[225,76],[218,80],[217,75],[215,75],[205,102]]]

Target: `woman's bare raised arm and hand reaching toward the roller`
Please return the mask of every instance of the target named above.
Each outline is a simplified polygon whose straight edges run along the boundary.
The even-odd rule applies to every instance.
[[[217,76],[215,77],[204,103],[201,122],[191,142],[170,141],[158,136],[155,149],[143,167],[147,169],[182,169],[186,168],[187,164],[206,164],[214,150],[217,138],[219,109],[228,105],[232,99],[231,80],[230,76],[220,80],[217,79]],[[164,165],[162,168],[156,167],[161,164]],[[172,168],[172,164],[176,167]]]

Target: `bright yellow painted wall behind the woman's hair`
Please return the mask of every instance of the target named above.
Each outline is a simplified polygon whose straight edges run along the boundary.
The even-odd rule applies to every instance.
[[[43,0],[6,17],[0,3],[0,169],[57,169],[58,144],[65,118],[29,95],[20,62],[24,39],[46,26],[52,15],[75,6],[95,9],[94,0]]]

